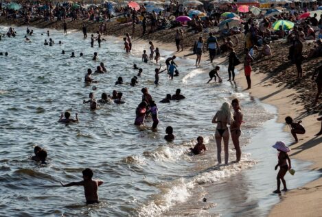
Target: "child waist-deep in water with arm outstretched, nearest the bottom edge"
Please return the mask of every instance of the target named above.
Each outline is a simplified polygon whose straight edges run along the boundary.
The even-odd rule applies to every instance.
[[[60,181],[60,184],[62,187],[70,187],[70,186],[84,186],[84,192],[85,192],[85,199],[87,204],[94,204],[94,203],[100,203],[98,201],[98,186],[101,186],[102,183],[104,183],[102,180],[95,180],[92,179],[93,177],[93,170],[90,168],[86,168],[82,170],[83,175],[83,181],[78,182],[71,182],[66,185]]]

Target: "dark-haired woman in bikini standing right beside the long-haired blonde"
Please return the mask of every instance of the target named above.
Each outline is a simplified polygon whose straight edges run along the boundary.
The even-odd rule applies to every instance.
[[[233,140],[233,146],[236,149],[236,162],[240,161],[242,151],[240,151],[239,138],[242,131],[240,131],[240,125],[242,125],[242,111],[240,110],[239,100],[233,99],[231,102],[233,106],[233,122],[230,126],[231,140]]]

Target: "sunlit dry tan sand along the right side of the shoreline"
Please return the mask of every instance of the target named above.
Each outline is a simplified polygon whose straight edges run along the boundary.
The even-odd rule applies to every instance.
[[[256,71],[251,75],[251,79],[252,88],[245,91],[264,103],[275,105],[279,114],[278,122],[284,123],[286,116],[292,116],[296,120],[303,121],[302,124],[306,128],[306,134],[299,135],[299,142],[290,146],[292,149],[290,158],[312,161],[314,164],[310,168],[321,171],[322,146],[319,144],[322,144],[322,136],[314,136],[321,127],[321,122],[317,121],[318,115],[309,115],[305,107],[294,100],[297,98],[297,91],[274,84],[269,75]],[[235,80],[239,86],[246,89],[246,79],[243,71],[240,71]],[[285,127],[285,130],[290,131],[288,126]],[[296,170],[296,168],[294,169]],[[269,216],[321,216],[321,181],[322,178],[319,178],[302,188],[292,189],[281,196],[281,202],[275,205]]]

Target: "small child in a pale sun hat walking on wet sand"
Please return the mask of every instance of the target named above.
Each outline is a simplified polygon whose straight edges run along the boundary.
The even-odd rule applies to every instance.
[[[275,190],[273,193],[281,193],[279,190],[281,186],[281,182],[283,183],[283,190],[286,192],[288,189],[286,188],[286,181],[284,179],[284,176],[286,175],[287,171],[290,170],[291,164],[290,164],[290,157],[288,157],[288,152],[290,152],[290,148],[286,146],[286,144],[282,141],[277,141],[273,145],[274,149],[277,149],[279,151],[278,154],[278,163],[275,166],[275,170],[277,170],[277,167],[279,166],[279,172],[277,173],[277,190]]]

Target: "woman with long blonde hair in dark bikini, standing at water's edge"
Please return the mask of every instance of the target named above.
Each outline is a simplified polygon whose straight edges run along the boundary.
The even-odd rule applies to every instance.
[[[229,142],[229,131],[227,124],[230,125],[233,122],[233,114],[230,112],[229,103],[223,103],[220,110],[215,114],[211,123],[216,123],[216,144],[217,144],[217,159],[218,164],[221,164],[221,140],[224,140],[224,151],[225,151],[225,164],[228,164],[228,142]]]

